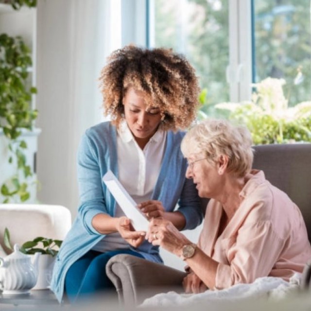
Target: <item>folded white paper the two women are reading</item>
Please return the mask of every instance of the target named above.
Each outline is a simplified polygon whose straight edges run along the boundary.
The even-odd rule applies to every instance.
[[[147,231],[149,221],[145,215],[139,210],[136,202],[131,198],[128,192],[121,185],[120,181],[111,171],[103,176],[103,181],[119,206],[122,208],[125,216],[131,220],[136,231]]]

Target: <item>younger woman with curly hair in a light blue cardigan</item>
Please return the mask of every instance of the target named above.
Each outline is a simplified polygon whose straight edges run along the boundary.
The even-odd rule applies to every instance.
[[[147,218],[163,217],[177,229],[203,219],[200,200],[186,179],[180,143],[193,121],[199,93],[194,69],[168,49],[126,46],[113,52],[100,77],[102,122],[83,136],[78,151],[80,206],[58,253],[51,289],[59,301],[103,292],[112,283],[107,261],[120,253],[162,262],[158,246],[134,231],[105,187],[111,170]],[[178,203],[179,208],[174,210]]]

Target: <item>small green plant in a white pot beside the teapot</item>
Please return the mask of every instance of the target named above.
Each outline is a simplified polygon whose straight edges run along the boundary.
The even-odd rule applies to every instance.
[[[3,242],[8,249],[13,251],[8,228],[5,228],[4,230]],[[32,241],[24,242],[20,246],[19,251],[24,254],[34,255],[37,252],[41,253],[41,256],[38,259],[37,282],[33,289],[41,290],[49,287],[55,258],[61,244],[61,240],[37,237]]]

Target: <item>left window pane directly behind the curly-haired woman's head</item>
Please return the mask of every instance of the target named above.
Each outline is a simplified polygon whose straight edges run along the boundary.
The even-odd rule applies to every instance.
[[[207,88],[202,108],[217,115],[213,104],[229,100],[225,69],[229,63],[228,1],[154,0],[152,46],[171,47],[185,54]]]

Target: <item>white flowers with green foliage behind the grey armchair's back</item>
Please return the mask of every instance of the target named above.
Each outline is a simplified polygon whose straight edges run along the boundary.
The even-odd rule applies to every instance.
[[[311,101],[288,106],[282,86],[285,80],[266,78],[254,84],[249,102],[221,103],[216,108],[229,110],[229,119],[243,123],[254,144],[311,142]]]

